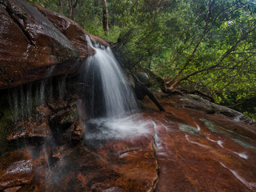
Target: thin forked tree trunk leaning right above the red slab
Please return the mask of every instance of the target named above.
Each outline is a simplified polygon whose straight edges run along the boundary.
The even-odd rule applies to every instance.
[[[200,2],[200,4],[202,4],[202,2]],[[255,26],[254,25],[250,26],[249,30],[244,32],[244,34],[242,34],[241,37],[238,38],[238,40],[236,42],[234,42],[234,46],[231,46],[230,49],[226,50],[226,52],[222,54],[222,57],[219,58],[219,60],[216,61],[216,63],[214,63],[213,65],[203,66],[201,69],[191,71],[189,74],[186,74],[181,78],[178,78],[181,76],[182,72],[189,66],[190,62],[193,60],[195,54],[198,52],[198,46],[200,46],[200,44],[202,43],[202,40],[204,38],[206,38],[206,34],[208,34],[211,30],[218,30],[219,29],[218,26],[221,23],[234,22],[233,20],[231,20],[234,18],[232,18],[232,16],[229,17],[228,14],[232,15],[232,14],[234,14],[234,12],[237,12],[238,10],[242,10],[243,7],[245,7],[249,4],[250,4],[250,2],[248,2],[248,1],[240,2],[240,3],[236,2],[236,1],[227,1],[227,2],[215,1],[215,0],[208,1],[207,9],[206,9],[207,13],[203,15],[203,17],[204,17],[203,20],[204,20],[205,26],[202,28],[202,35],[198,39],[198,42],[194,46],[194,50],[190,54],[189,58],[187,58],[186,62],[182,66],[182,68],[180,70],[178,70],[178,73],[175,74],[175,76],[174,76],[174,78],[172,78],[172,80],[170,80],[169,82],[166,82],[166,86],[169,87],[168,88],[169,90],[172,90],[174,88],[174,86],[178,85],[179,82],[182,82],[183,80],[186,80],[187,78],[190,78],[190,76],[192,76],[194,74],[202,73],[203,71],[206,71],[206,70],[213,70],[216,67],[220,66],[221,63],[223,62],[223,60],[225,58],[227,58],[229,56],[229,54],[231,54],[237,48],[238,44],[240,42],[242,42],[243,40],[245,40],[245,38],[249,34],[251,34],[255,31]],[[176,80],[177,78],[178,78],[178,80]]]

